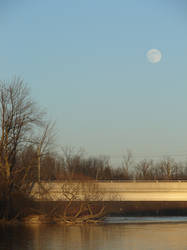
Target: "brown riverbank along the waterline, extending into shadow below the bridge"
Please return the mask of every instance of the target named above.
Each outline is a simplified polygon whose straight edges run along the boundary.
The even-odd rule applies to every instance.
[[[88,204],[87,204],[88,205]],[[105,201],[89,202],[92,208],[90,216],[86,210],[80,214],[81,203],[71,204],[68,215],[64,215],[67,202],[33,201],[31,207],[23,209],[22,215],[11,220],[1,219],[0,224],[84,224],[98,223],[105,217],[125,216],[187,216],[187,202],[125,202]],[[102,212],[100,212],[102,210]]]

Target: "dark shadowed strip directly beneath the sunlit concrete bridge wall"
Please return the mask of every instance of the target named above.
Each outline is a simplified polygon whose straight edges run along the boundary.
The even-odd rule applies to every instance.
[[[90,202],[93,207],[105,206],[105,215],[123,216],[187,216],[187,201],[97,201]],[[73,202],[76,209],[79,202]],[[42,213],[49,214],[55,207],[57,213],[62,213],[65,202],[40,201],[36,208]]]

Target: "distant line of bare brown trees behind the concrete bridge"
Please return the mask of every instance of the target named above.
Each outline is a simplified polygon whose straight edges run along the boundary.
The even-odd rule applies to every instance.
[[[38,179],[37,152],[32,146],[24,148],[17,156],[17,168],[30,166],[29,175]],[[40,180],[185,180],[187,164],[171,158],[160,161],[135,162],[131,153],[124,155],[121,166],[114,167],[108,157],[85,157],[81,152],[65,148],[61,154],[46,153],[41,158]]]

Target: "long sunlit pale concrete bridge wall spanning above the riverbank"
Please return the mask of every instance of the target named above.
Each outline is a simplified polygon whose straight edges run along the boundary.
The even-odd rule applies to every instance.
[[[187,201],[187,181],[42,182],[32,195],[39,200]]]

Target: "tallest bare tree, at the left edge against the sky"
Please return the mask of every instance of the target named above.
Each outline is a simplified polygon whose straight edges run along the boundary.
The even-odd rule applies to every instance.
[[[6,186],[3,196],[7,201],[12,190],[20,186],[20,181],[17,182],[20,172],[22,176],[28,172],[16,168],[16,157],[30,142],[32,132],[42,126],[43,115],[23,80],[0,82],[0,179]]]

